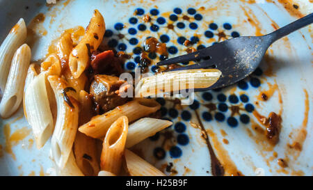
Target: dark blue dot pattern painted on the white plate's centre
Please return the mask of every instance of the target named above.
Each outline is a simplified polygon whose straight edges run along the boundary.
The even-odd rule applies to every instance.
[[[150,16],[150,21],[145,22],[143,17]],[[183,18],[184,17],[184,18]],[[188,18],[188,19],[186,19]],[[197,50],[204,49],[210,45],[216,44],[230,38],[237,38],[240,36],[239,31],[234,29],[234,23],[224,20],[222,22],[212,21],[211,18],[204,17],[201,11],[196,8],[173,8],[172,12],[165,16],[158,8],[145,9],[138,7],[134,10],[134,14],[129,14],[126,19],[127,22],[116,22],[113,26],[106,29],[104,33],[104,41],[116,52],[125,51],[132,54],[132,58],[125,62],[124,68],[129,72],[133,72],[138,64],[141,63],[140,54],[145,51],[143,41],[145,39],[144,33],[150,33],[156,37],[160,42],[166,43],[167,51],[170,56],[177,56],[184,54],[186,49],[186,40],[190,41],[191,47]],[[202,26],[205,28],[202,29]],[[170,29],[168,26],[174,29]],[[169,31],[175,31],[170,34]],[[191,31],[191,35],[187,35],[184,31]],[[201,33],[198,33],[198,31]],[[223,33],[223,35],[220,35]],[[156,35],[154,35],[156,34]],[[139,37],[141,36],[141,37]],[[144,37],[142,37],[144,36]],[[225,36],[220,38],[220,36]],[[209,43],[207,41],[210,41]],[[167,56],[161,55],[157,52],[148,52],[148,58],[153,63],[165,60]],[[188,65],[191,62],[182,63]],[[158,67],[151,65],[150,71],[152,73],[158,71]],[[257,68],[252,73],[251,77],[237,82],[234,86],[241,91],[240,94],[227,93],[224,89],[208,90],[199,93],[198,99],[193,102],[186,109],[176,109],[175,106],[168,106],[168,100],[164,98],[157,98],[157,102],[161,104],[161,117],[173,122],[172,127],[167,127],[161,132],[157,132],[154,136],[150,136],[150,141],[162,141],[162,136],[168,136],[168,132],[172,132],[171,138],[175,139],[175,144],[169,149],[157,146],[153,150],[153,155],[156,159],[162,160],[170,156],[172,159],[182,157],[184,147],[190,143],[188,134],[189,122],[198,113],[202,122],[220,122],[227,126],[235,128],[242,127],[250,123],[250,116],[255,111],[255,105],[250,102],[250,96],[245,93],[247,90],[259,88],[262,83],[259,77],[262,77],[263,70]],[[157,143],[156,143],[157,144]]]

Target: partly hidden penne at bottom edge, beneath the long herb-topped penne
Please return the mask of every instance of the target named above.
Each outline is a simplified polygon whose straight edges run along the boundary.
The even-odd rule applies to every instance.
[[[75,157],[73,152],[70,152],[70,155],[66,161],[64,168],[58,168],[56,166],[56,175],[58,176],[84,176],[79,167],[76,164]]]

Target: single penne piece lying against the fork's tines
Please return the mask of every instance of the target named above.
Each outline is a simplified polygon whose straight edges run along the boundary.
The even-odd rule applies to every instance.
[[[136,86],[136,97],[147,97],[193,88],[207,88],[218,81],[220,74],[220,70],[216,69],[162,72],[141,79]]]

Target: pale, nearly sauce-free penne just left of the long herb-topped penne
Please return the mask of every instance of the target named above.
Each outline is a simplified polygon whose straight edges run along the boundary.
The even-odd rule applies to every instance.
[[[33,128],[33,136],[38,149],[45,145],[54,129],[47,86],[49,83],[45,79],[45,74],[42,73],[31,81],[25,92],[26,117]]]

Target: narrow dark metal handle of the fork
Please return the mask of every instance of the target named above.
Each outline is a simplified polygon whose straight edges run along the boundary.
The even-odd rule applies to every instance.
[[[273,43],[276,40],[284,37],[285,35],[288,35],[289,33],[297,31],[298,29],[301,29],[304,26],[307,26],[312,23],[313,23],[313,13],[311,13],[310,15],[306,15],[305,17],[302,17],[296,20],[295,22],[292,22],[276,31],[273,31],[268,35],[271,35],[271,42]]]

